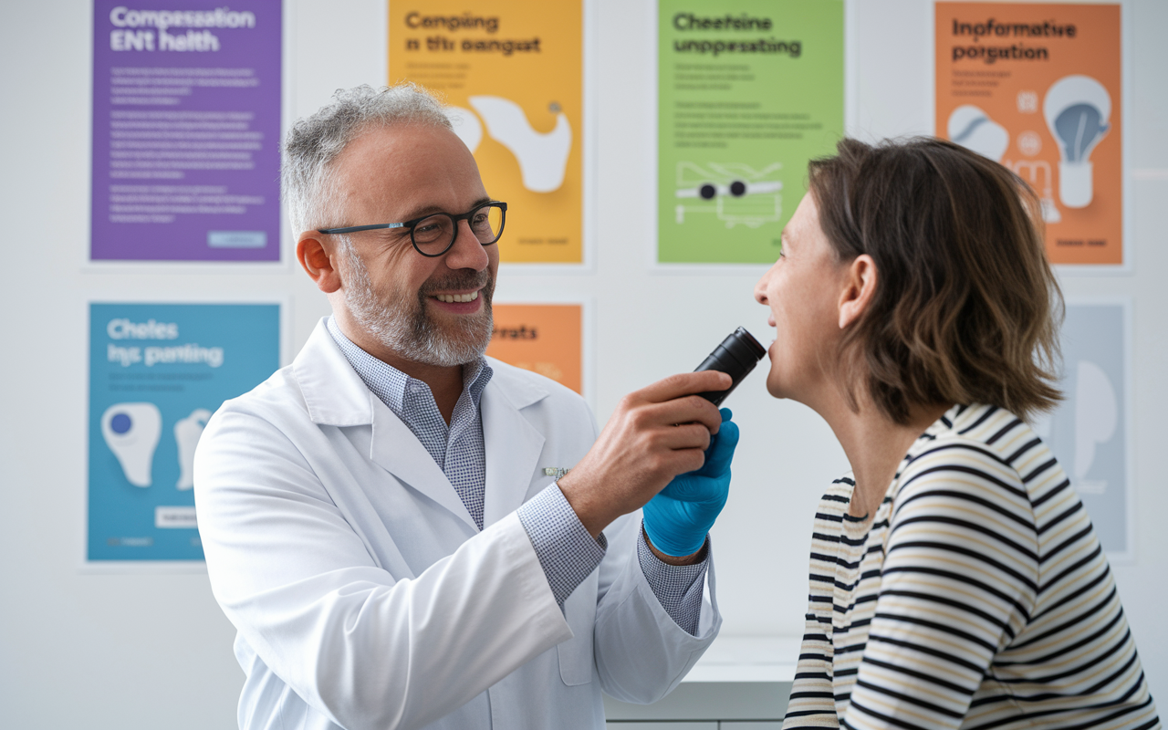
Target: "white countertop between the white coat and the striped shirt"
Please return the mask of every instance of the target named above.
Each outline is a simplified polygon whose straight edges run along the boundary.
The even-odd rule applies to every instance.
[[[683,682],[791,682],[802,637],[718,637]]]

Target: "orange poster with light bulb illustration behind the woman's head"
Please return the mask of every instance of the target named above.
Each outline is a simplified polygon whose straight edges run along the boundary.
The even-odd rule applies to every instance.
[[[937,4],[937,135],[1038,194],[1054,264],[1124,263],[1119,5]]]

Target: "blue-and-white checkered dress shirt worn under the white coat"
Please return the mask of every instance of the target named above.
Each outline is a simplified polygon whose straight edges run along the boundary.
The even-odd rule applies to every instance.
[[[341,332],[334,318],[328,318],[327,326],[328,333],[353,369],[369,390],[413,432],[450,479],[474,523],[482,529],[487,451],[482,440],[482,412],[479,403],[482,390],[493,375],[486,359],[479,357],[463,366],[463,392],[454,404],[447,426],[426,383],[390,367],[354,345]],[[519,508],[517,514],[531,540],[536,557],[540,558],[551,593],[562,607],[576,586],[600,564],[609,547],[607,541],[604,534],[599,540],[592,538],[555,484],[528,500]],[[661,606],[679,626],[696,634],[709,558],[695,565],[669,565],[649,550],[644,530],[637,542],[641,571]]]

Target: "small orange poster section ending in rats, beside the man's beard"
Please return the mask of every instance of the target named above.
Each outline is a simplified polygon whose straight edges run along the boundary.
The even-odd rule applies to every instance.
[[[578,304],[495,304],[487,354],[583,392],[582,310]]]

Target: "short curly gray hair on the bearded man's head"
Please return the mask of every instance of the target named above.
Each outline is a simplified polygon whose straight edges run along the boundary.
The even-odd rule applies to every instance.
[[[338,218],[332,162],[370,127],[399,124],[453,128],[442,102],[412,83],[338,89],[331,104],[292,125],[284,138],[280,182],[293,234],[353,223]]]

